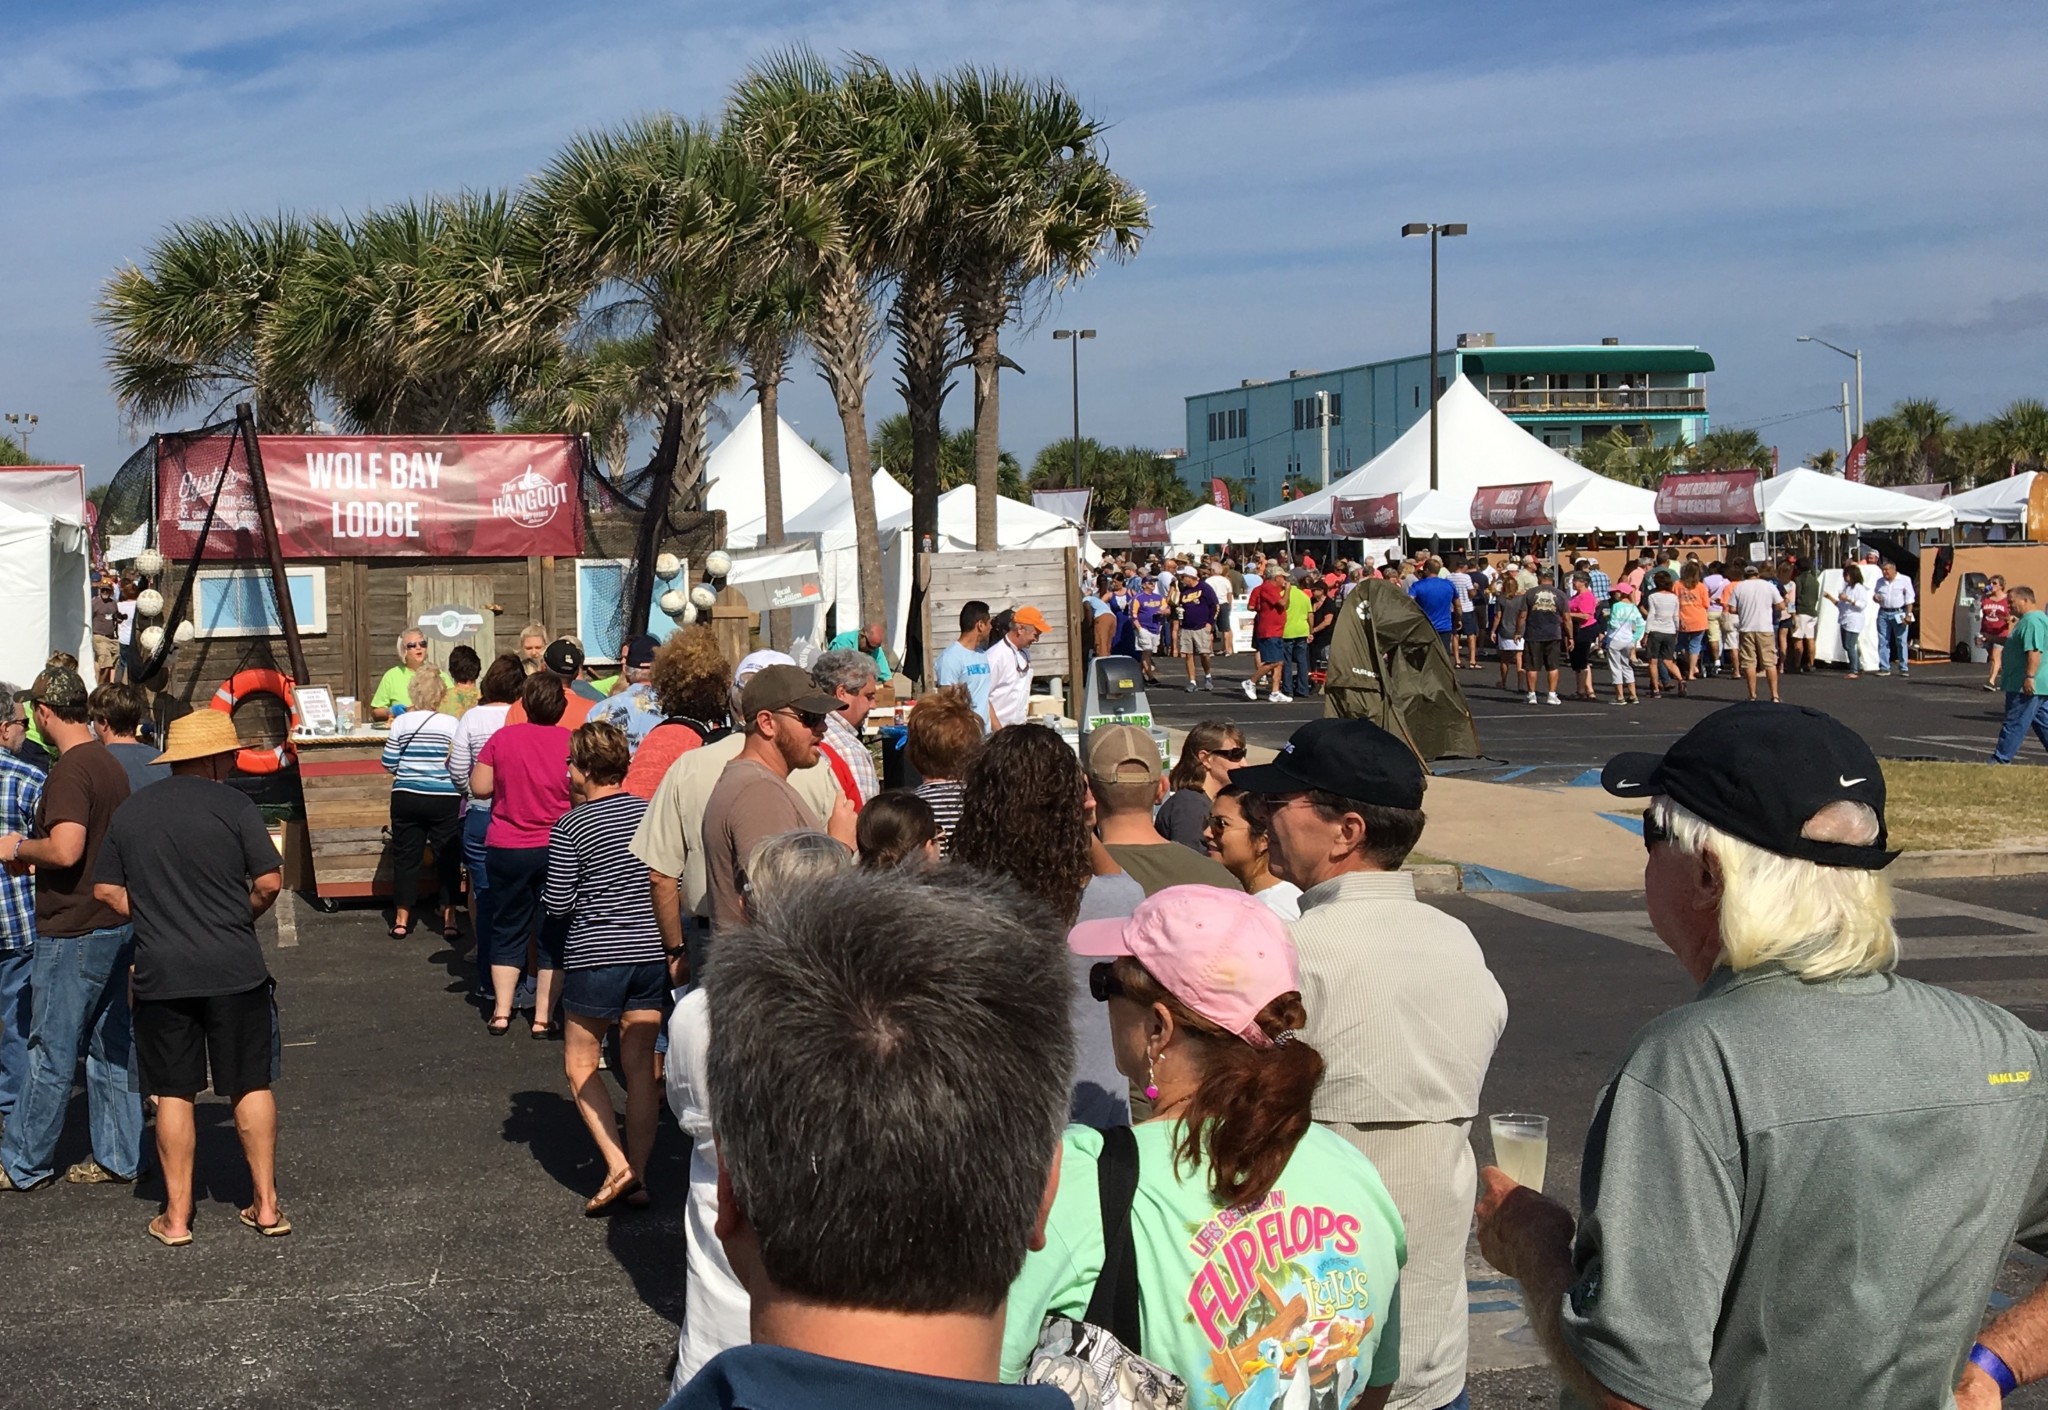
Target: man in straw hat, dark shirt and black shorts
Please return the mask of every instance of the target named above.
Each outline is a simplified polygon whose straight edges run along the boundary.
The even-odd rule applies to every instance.
[[[291,1234],[276,1207],[274,984],[256,916],[283,885],[262,814],[221,783],[242,748],[233,721],[201,709],[170,725],[170,777],[135,793],[100,846],[92,894],[135,924],[135,1064],[156,1096],[164,1213],[150,1238],[193,1242],[193,1105],[213,1090],[236,1107],[254,1199],[242,1224]]]

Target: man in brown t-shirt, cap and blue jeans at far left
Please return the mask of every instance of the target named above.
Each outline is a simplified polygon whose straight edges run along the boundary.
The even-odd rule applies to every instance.
[[[133,1180],[141,1160],[141,1096],[129,1090],[127,976],[135,928],[92,896],[92,871],[115,807],[129,795],[127,769],[92,738],[86,682],[51,666],[29,689],[35,728],[57,748],[43,781],[33,836],[0,836],[0,865],[35,869],[35,967],[29,973],[29,1074],[0,1135],[0,1191],[35,1189],[55,1176],[57,1137],[72,1101],[78,1053],[86,1053],[92,1158],[74,1185]]]

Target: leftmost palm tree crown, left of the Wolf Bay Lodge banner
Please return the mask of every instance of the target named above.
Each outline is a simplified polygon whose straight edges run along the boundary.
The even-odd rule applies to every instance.
[[[313,387],[266,359],[264,324],[311,248],[293,215],[186,221],[102,287],[94,322],[111,342],[115,400],[131,422],[250,400],[262,426],[305,430]]]

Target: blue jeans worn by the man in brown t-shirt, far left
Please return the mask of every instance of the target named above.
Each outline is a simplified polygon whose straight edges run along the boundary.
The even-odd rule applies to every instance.
[[[135,1176],[141,1164],[141,1096],[129,1084],[135,1045],[127,973],[133,957],[135,926],[127,924],[35,939],[29,1076],[0,1137],[0,1166],[14,1185],[39,1185],[55,1174],[80,1047],[86,1051],[92,1158],[119,1176]]]

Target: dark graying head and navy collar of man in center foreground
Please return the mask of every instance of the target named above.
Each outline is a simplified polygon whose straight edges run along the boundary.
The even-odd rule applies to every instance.
[[[979,873],[852,871],[770,898],[707,988],[717,1232],[754,1340],[666,1410],[1067,1410],[997,1383],[1067,1123],[1059,930]]]

